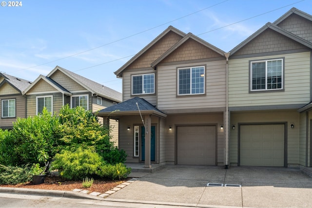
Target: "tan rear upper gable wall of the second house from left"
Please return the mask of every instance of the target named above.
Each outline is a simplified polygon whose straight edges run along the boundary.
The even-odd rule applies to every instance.
[[[61,71],[57,70],[54,72],[49,78],[53,79],[55,82],[57,82],[59,85],[61,85],[63,88],[68,90],[69,92],[72,91],[78,91],[78,90],[86,90],[84,87],[79,85],[76,81],[74,81],[72,78],[68,77]]]

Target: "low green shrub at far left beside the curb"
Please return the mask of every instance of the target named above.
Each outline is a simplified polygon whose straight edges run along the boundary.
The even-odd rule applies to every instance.
[[[20,184],[32,180],[32,174],[28,166],[4,166],[0,165],[0,184]]]

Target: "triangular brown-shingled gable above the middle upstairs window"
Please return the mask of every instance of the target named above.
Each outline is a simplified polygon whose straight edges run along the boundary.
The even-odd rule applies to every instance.
[[[214,50],[204,46],[192,38],[186,40],[175,51],[164,58],[161,63],[223,57]]]

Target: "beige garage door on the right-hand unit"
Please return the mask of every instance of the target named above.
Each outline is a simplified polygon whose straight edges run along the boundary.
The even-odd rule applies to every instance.
[[[241,166],[284,166],[284,124],[241,125]]]

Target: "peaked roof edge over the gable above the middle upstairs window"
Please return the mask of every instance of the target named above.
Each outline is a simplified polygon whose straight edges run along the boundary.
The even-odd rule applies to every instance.
[[[159,62],[161,62],[165,57],[169,56],[172,52],[174,52],[179,46],[181,46],[185,41],[188,39],[193,39],[200,44],[206,46],[207,48],[210,48],[211,50],[215,51],[216,53],[220,54],[224,57],[224,51],[221,49],[213,46],[212,44],[206,42],[205,40],[198,38],[197,36],[193,35],[192,33],[188,33],[184,38],[182,38],[180,41],[178,41],[174,46],[172,46],[168,51],[166,51],[163,55],[161,55],[159,58],[157,58],[151,66],[154,68]]]

